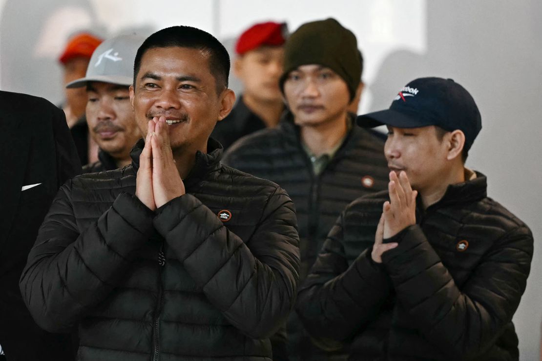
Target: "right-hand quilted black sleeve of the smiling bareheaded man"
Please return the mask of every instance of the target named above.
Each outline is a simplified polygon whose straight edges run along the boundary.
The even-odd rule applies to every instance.
[[[281,188],[246,244],[190,194],[160,207],[154,227],[238,330],[267,338],[286,320],[299,279],[299,237],[293,202]]]

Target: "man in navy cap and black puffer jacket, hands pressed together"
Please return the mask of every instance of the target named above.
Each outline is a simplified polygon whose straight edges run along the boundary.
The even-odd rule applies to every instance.
[[[518,360],[512,317],[533,255],[530,229],[464,166],[481,129],[451,79],[418,78],[390,109],[388,191],[346,207],[299,293],[315,338],[352,360]]]

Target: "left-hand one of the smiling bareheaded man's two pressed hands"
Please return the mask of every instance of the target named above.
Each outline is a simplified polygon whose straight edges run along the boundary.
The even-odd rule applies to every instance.
[[[145,147],[139,156],[139,169],[135,179],[135,196],[151,211],[156,210],[154,195],[152,192],[152,146],[151,137],[154,133],[154,121],[149,121],[147,125],[147,137],[145,138]]]

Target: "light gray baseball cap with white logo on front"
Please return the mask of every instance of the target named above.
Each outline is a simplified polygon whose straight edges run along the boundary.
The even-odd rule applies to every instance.
[[[70,82],[66,88],[81,88],[87,82],[132,85],[135,53],[145,41],[139,35],[121,35],[105,40],[92,53],[87,74]]]

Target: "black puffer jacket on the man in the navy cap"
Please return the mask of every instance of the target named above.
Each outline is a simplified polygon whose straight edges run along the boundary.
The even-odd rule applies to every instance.
[[[326,240],[296,306],[313,336],[353,339],[352,360],[518,360],[512,316],[530,271],[530,229],[487,198],[478,173],[418,207],[417,225],[385,240],[399,246],[376,264],[386,200],[354,201]]]

